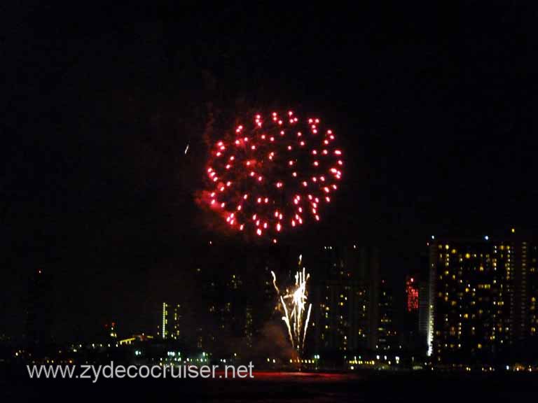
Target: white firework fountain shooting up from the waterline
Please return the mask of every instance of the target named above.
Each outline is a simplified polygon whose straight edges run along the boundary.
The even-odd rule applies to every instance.
[[[312,309],[312,304],[308,304],[308,310],[306,309],[308,299],[306,283],[310,278],[310,274],[306,273],[304,267],[303,271],[297,271],[294,289],[291,291],[286,289],[284,295],[280,293],[277,286],[275,272],[271,271],[271,274],[273,275],[273,285],[279,296],[278,309],[284,313],[282,320],[286,323],[289,341],[291,346],[301,353],[305,348],[306,331],[308,330],[310,310]]]

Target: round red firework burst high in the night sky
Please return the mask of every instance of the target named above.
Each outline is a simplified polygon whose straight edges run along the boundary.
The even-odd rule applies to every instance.
[[[231,229],[276,243],[277,234],[321,219],[343,164],[318,118],[257,114],[210,150],[203,200]]]

